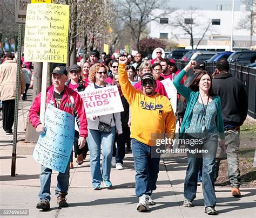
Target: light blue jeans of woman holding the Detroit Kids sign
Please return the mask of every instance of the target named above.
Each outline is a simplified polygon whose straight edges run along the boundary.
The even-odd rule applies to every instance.
[[[101,133],[99,130],[88,130],[87,143],[90,151],[92,187],[97,187],[103,180],[110,181],[112,150],[116,126],[110,133]],[[100,145],[102,145],[102,172],[100,171]]]

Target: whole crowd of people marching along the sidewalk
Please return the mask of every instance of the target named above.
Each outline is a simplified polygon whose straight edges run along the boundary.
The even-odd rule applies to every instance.
[[[240,126],[247,115],[247,96],[242,83],[229,72],[227,60],[220,59],[213,74],[206,71],[204,61],[190,61],[180,71],[174,60],[163,58],[163,49],[156,48],[156,58],[143,59],[125,53],[118,57],[106,56],[93,50],[89,60],[79,60],[68,70],[56,66],[51,72],[52,85],[46,90],[46,107],[51,105],[75,117],[73,151],[77,164],[83,164],[90,151],[91,182],[93,190],[102,184],[111,189],[111,163],[116,170],[123,170],[126,151],[132,151],[136,171],[138,211],[149,210],[155,205],[152,193],[156,190],[160,154],[156,152],[156,139],[176,137],[176,124],[180,125],[179,137],[201,139],[200,144],[185,145],[188,150],[207,150],[205,153],[187,153],[187,170],[184,181],[184,207],[193,207],[198,182],[203,184],[205,213],[217,214],[214,181],[218,178],[220,160],[224,153],[228,160],[228,179],[231,194],[240,197],[240,171],[238,162]],[[14,123],[15,78],[17,62],[6,54],[0,65],[0,94],[3,102],[3,129],[12,132]],[[23,64],[22,68],[26,69]],[[187,75],[192,69],[193,74]],[[29,70],[21,73],[19,93],[29,88]],[[24,80],[25,78],[25,80]],[[177,111],[174,114],[161,82],[170,79],[177,89]],[[86,108],[79,92],[117,86],[124,111],[86,118]],[[41,93],[33,101],[29,119],[37,132],[47,131],[39,119]],[[72,146],[72,145],[70,145]],[[172,144],[163,145],[168,149]],[[102,167],[100,167],[102,153]],[[113,163],[112,163],[113,164]],[[56,197],[59,207],[68,207],[66,195],[69,188],[70,164],[57,177]],[[41,168],[38,209],[50,209],[50,182],[52,170]]]

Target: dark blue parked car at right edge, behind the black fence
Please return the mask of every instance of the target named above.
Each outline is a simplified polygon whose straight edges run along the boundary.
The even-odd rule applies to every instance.
[[[237,51],[228,57],[227,61],[230,64],[248,65],[256,60],[256,51]]]

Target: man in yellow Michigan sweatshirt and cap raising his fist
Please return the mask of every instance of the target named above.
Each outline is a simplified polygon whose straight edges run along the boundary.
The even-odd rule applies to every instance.
[[[167,97],[156,92],[156,80],[151,73],[142,77],[142,92],[133,88],[125,70],[126,57],[119,58],[119,83],[131,109],[131,138],[134,168],[136,170],[137,210],[149,210],[155,205],[151,198],[156,190],[160,154],[156,140],[173,137],[176,118]]]

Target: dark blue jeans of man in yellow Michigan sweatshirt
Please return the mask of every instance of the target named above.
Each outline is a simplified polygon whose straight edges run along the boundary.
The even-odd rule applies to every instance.
[[[151,157],[152,147],[132,138],[132,154],[134,158],[135,192],[138,197],[151,195],[157,189],[160,157]]]

